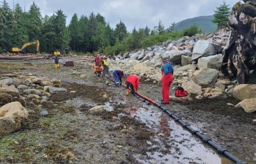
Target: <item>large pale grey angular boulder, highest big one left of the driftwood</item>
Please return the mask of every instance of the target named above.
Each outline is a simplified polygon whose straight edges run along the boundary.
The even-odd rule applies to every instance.
[[[210,56],[216,53],[216,48],[208,40],[198,40],[193,48],[191,60],[196,60],[201,56]]]

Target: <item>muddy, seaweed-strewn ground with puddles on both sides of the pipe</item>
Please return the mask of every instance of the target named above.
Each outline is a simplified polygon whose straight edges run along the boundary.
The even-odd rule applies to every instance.
[[[75,68],[62,67],[56,71],[51,61],[40,60],[15,62],[6,67],[0,73],[19,71],[61,79],[68,93],[53,95],[53,103],[43,106],[49,110],[48,118],[34,114],[26,130],[2,138],[0,152],[9,155],[0,153],[0,161],[5,157],[9,162],[61,163],[72,152],[74,163],[230,163],[154,106],[126,97],[124,89],[107,87],[105,80],[95,77],[88,65],[76,63]],[[88,78],[70,75],[74,71]],[[155,84],[142,82],[139,91],[160,98],[160,86]],[[106,98],[102,98],[104,94]],[[227,102],[172,102],[166,107],[240,159],[255,163],[256,128],[251,120],[256,114],[230,108]],[[104,105],[110,112],[88,114],[87,110],[96,105]]]

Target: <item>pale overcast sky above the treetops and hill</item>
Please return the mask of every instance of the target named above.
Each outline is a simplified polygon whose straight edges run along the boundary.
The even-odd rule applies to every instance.
[[[0,0],[3,1],[3,0]],[[28,11],[33,0],[7,0],[10,7],[14,3],[20,3],[22,8]],[[127,30],[144,28],[147,25],[152,28],[162,21],[165,28],[172,22],[180,22],[183,19],[201,15],[213,15],[214,9],[223,0],[34,0],[40,7],[42,16],[53,15],[54,11],[62,9],[67,15],[69,24],[73,13],[78,16],[100,13],[106,22],[113,28],[122,20]],[[232,7],[238,0],[226,0]]]

